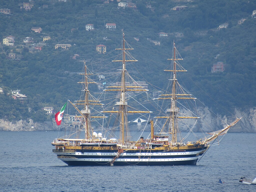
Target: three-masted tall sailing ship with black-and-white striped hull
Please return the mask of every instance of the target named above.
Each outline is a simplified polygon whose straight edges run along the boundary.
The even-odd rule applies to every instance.
[[[180,115],[177,102],[180,99],[195,100],[191,94],[186,92],[182,86],[179,85],[177,80],[177,72],[186,71],[179,64],[178,52],[175,44],[173,46],[173,57],[171,60],[172,68],[165,70],[171,72],[171,78],[169,79],[170,92],[160,95],[157,98],[159,101],[167,101],[165,106],[164,115],[159,113],[155,118],[160,121],[164,121],[162,127],[158,133],[155,133],[153,120],[150,120],[151,134],[148,138],[144,139],[139,137],[137,140],[132,141],[132,137],[129,132],[128,115],[151,114],[149,110],[136,110],[129,105],[131,92],[145,92],[148,91],[143,86],[136,85],[131,86],[126,81],[131,78],[126,69],[127,62],[135,62],[131,54],[129,53],[132,48],[128,46],[124,33],[122,34],[122,59],[114,60],[121,62],[121,81],[114,86],[106,87],[104,92],[116,92],[115,98],[117,101],[111,107],[102,108],[99,114],[92,116],[91,109],[94,106],[101,106],[100,101],[94,98],[89,91],[89,84],[95,83],[89,81],[89,75],[86,63],[84,63],[84,81],[79,82],[83,84],[83,99],[72,103],[69,101],[79,113],[76,118],[79,118],[83,125],[85,132],[84,138],[57,138],[51,144],[55,146],[53,152],[57,155],[57,158],[68,165],[73,166],[86,166],[86,165],[196,165],[198,159],[209,149],[212,142],[221,135],[228,132],[231,126],[234,126],[241,118],[237,118],[231,124],[227,124],[225,128],[209,133],[208,137],[198,139],[196,141],[185,142],[182,138],[180,129],[178,126],[178,120],[180,119],[197,119],[197,116],[182,116]],[[128,47],[128,48],[127,48]],[[92,98],[92,99],[91,99]],[[129,98],[129,99],[128,99]],[[113,102],[112,102],[113,103]],[[82,106],[79,109],[78,106]],[[110,134],[110,137],[105,137],[102,133],[93,132],[91,121],[95,118],[104,119],[109,116],[115,117],[114,128],[119,128],[119,138],[115,138],[114,134]],[[149,118],[148,118],[149,120]],[[102,125],[103,126],[103,125]],[[113,133],[114,128],[110,127],[110,131]],[[111,138],[112,136],[112,138]]]

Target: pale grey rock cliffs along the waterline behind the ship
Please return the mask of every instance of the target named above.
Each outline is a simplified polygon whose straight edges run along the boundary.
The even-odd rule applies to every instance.
[[[186,115],[186,111],[181,111]],[[235,109],[234,115],[220,116],[213,115],[208,108],[197,109],[196,114],[200,117],[198,124],[195,125],[194,132],[212,132],[223,129],[227,123],[232,123],[236,117],[243,117],[235,126],[231,127],[230,132],[256,133],[256,107],[250,109]],[[187,116],[190,116],[189,114]],[[179,127],[182,132],[188,132],[194,125],[195,120],[179,121]],[[33,122],[29,119],[17,122],[9,122],[0,119],[0,131],[58,131],[64,130],[65,125],[57,126],[55,120],[45,121],[44,123]],[[149,129],[150,130],[150,129]],[[148,130],[147,130],[148,131]]]

